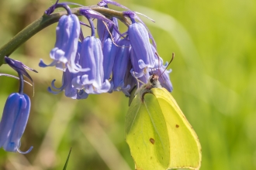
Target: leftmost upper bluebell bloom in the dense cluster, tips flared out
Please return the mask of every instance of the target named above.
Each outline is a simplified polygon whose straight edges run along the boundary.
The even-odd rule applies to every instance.
[[[50,51],[50,58],[54,61],[46,65],[41,59],[39,65],[41,67],[56,66],[57,69],[63,71],[68,68],[71,73],[88,71],[87,68],[81,70],[74,62],[78,50],[80,29],[80,22],[76,15],[62,15],[56,28],[55,47]]]

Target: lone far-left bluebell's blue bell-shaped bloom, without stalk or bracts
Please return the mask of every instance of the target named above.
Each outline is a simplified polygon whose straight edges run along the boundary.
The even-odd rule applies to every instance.
[[[32,150],[33,147],[25,152],[19,150],[20,139],[29,118],[29,110],[30,100],[26,94],[12,93],[8,97],[0,123],[0,148],[22,154]]]

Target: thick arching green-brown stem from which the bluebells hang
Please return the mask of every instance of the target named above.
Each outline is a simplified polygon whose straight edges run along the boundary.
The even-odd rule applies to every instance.
[[[96,12],[102,13],[102,15],[106,15],[106,17],[115,16],[120,19],[126,26],[129,26],[129,22],[123,16],[123,12],[118,12],[109,8],[102,8],[97,5],[81,7],[81,8],[92,8]],[[75,15],[80,15],[79,10],[81,8],[72,8],[71,12]],[[35,22],[31,23],[29,26],[26,26],[25,29],[22,29],[16,36],[9,40],[4,46],[0,48],[0,66],[5,63],[5,56],[10,56],[22,43],[26,42],[26,40],[30,39],[30,37],[34,36],[40,30],[46,28],[58,22],[62,15],[66,15],[67,12],[58,12],[51,15],[43,15],[40,19],[37,19]]]

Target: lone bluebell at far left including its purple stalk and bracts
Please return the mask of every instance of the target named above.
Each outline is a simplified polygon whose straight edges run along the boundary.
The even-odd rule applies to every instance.
[[[36,72],[36,70],[30,69],[23,63],[5,57],[5,63],[12,67],[13,70],[19,74],[19,93],[12,93],[5,103],[5,108],[2,114],[2,120],[0,122],[0,148],[4,148],[5,151],[18,151],[19,153],[26,154],[32,150],[30,147],[28,151],[22,152],[19,150],[20,138],[25,131],[26,124],[29,118],[30,100],[26,94],[23,94],[24,77],[27,76],[29,80],[32,80],[29,73],[25,69]],[[36,72],[37,73],[37,72]],[[13,76],[12,76],[13,77]]]

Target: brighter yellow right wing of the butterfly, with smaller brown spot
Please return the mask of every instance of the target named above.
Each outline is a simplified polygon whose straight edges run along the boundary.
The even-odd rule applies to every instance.
[[[168,90],[154,88],[151,89],[151,92],[157,98],[168,127],[170,141],[169,168],[199,168],[202,157],[201,145],[189,121],[187,121]]]

